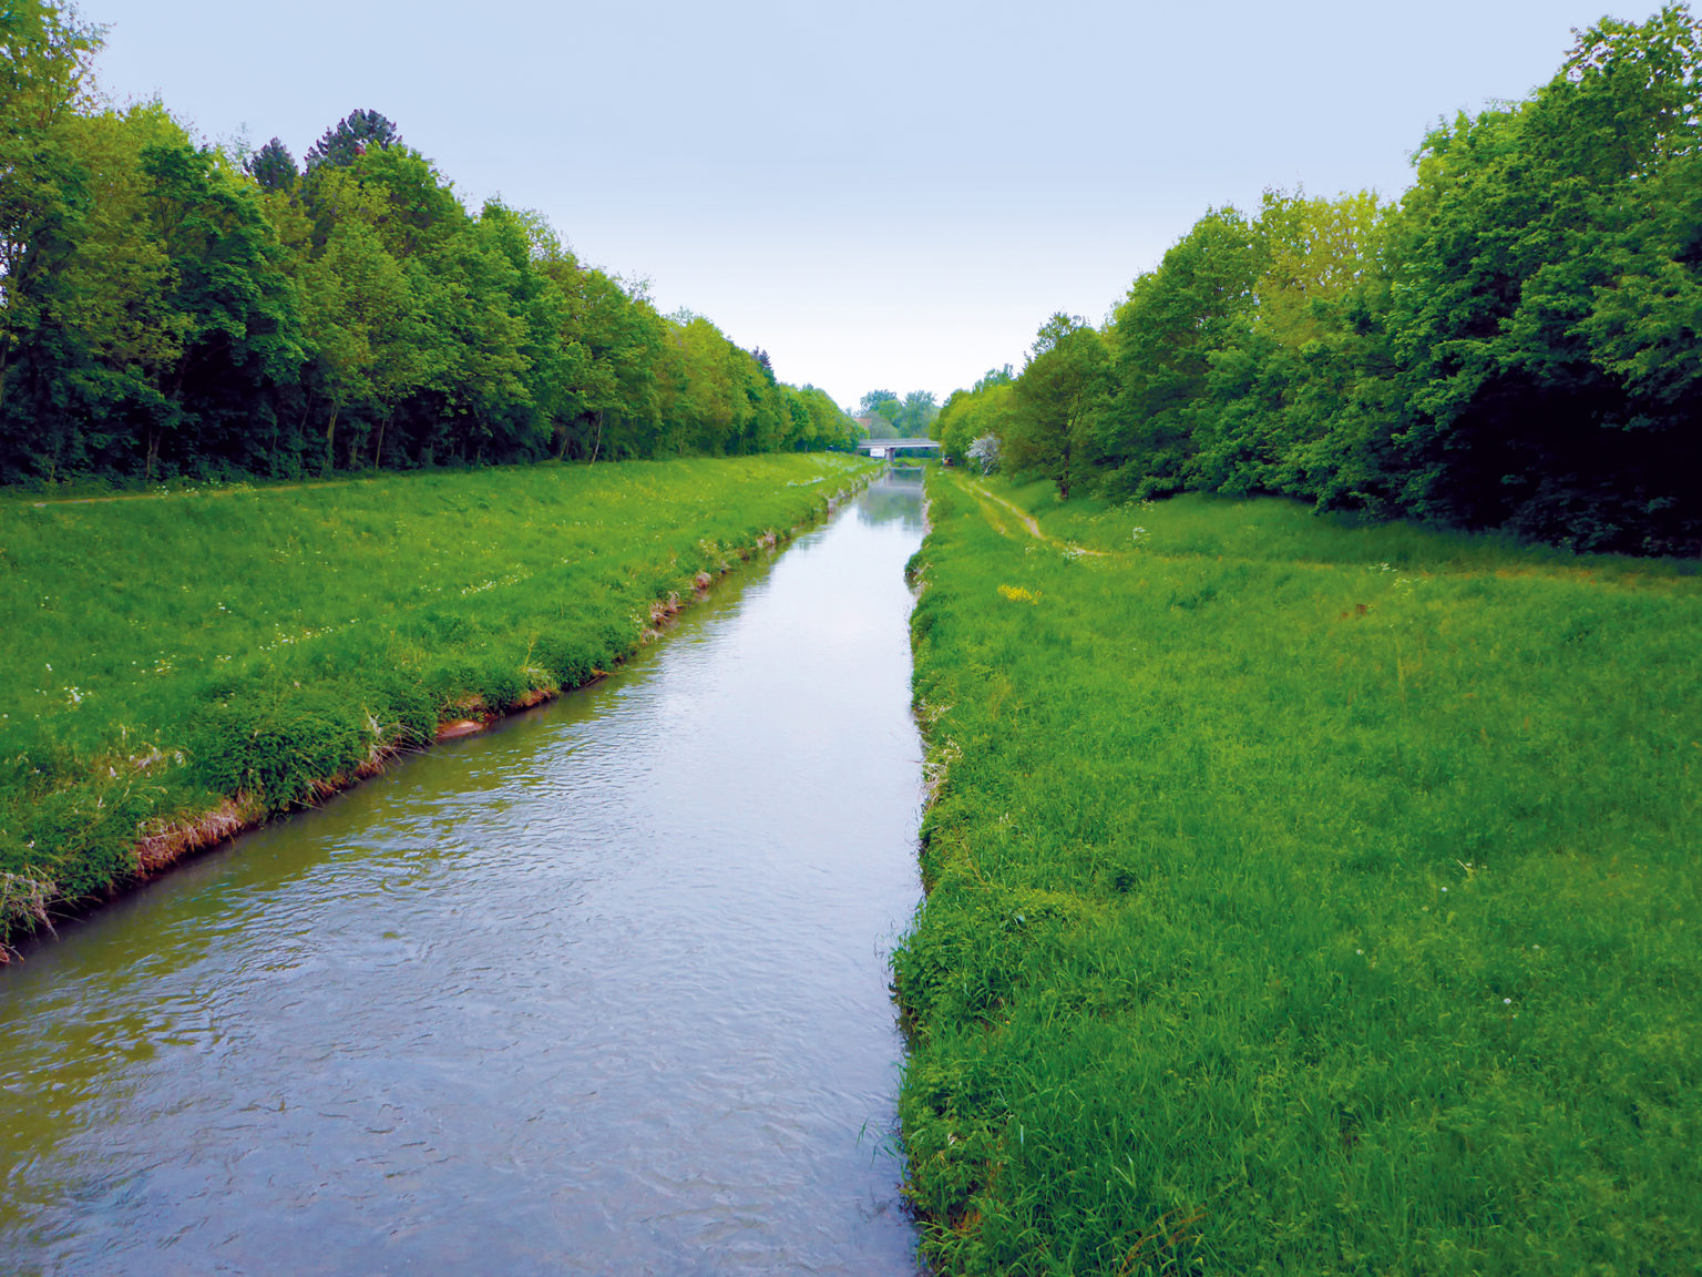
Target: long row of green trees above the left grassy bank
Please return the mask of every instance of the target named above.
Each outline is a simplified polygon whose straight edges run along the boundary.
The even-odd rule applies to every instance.
[[[710,320],[465,208],[376,111],[303,157],[92,97],[99,27],[0,7],[0,482],[844,448]]]

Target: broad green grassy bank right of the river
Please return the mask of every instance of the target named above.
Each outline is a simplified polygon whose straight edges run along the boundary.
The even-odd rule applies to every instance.
[[[1048,492],[912,564],[938,1270],[1699,1270],[1697,564]]]

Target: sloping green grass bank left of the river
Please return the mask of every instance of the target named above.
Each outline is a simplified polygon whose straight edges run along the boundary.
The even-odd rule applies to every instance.
[[[582,684],[846,456],[0,499],[0,940]]]

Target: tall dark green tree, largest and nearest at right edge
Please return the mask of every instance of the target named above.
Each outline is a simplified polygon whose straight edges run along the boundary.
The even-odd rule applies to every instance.
[[[1680,478],[1693,424],[1642,410],[1627,385],[1634,351],[1661,341],[1663,308],[1613,295],[1627,276],[1678,278],[1659,257],[1682,254],[1685,232],[1644,228],[1685,220],[1668,204],[1683,208],[1695,174],[1699,51],[1680,5],[1642,24],[1608,19],[1528,102],[1426,138],[1392,315],[1414,513],[1579,548],[1695,536],[1693,485]]]

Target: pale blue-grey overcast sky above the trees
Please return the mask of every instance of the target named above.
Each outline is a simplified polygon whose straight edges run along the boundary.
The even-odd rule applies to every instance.
[[[1399,194],[1425,129],[1653,0],[82,0],[114,102],[301,153],[356,107],[786,381],[945,398],[1210,206]]]

